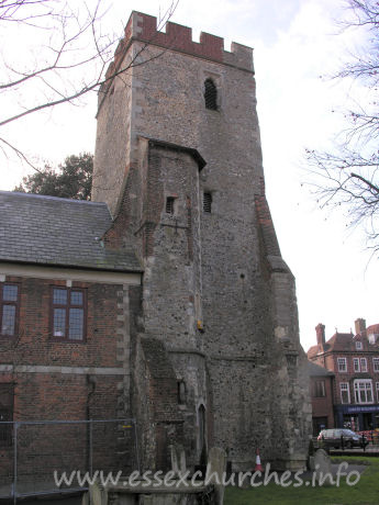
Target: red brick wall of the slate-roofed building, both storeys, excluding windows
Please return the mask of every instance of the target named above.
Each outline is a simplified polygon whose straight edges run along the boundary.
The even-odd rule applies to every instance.
[[[51,287],[65,281],[8,277],[20,285],[19,335],[0,339],[0,364],[13,367],[98,367],[120,368],[116,360],[116,329],[122,322],[120,285],[73,282],[87,290],[87,335],[82,343],[54,341],[51,335]],[[14,420],[85,420],[118,417],[122,393],[120,375],[36,372],[0,372],[0,382],[14,384]],[[122,468],[118,461],[123,434],[118,424],[93,428],[93,464],[100,469]],[[86,425],[21,425],[18,430],[19,479],[45,480],[52,468],[83,469],[88,464]],[[120,452],[121,453],[121,452]],[[12,447],[0,447],[0,484],[13,473]]]

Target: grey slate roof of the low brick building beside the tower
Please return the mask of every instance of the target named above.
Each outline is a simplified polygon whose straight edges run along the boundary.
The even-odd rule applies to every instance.
[[[0,191],[0,261],[142,271],[134,252],[107,249],[105,203]]]

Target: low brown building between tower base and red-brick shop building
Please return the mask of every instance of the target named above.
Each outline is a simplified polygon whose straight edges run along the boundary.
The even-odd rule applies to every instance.
[[[334,428],[334,372],[309,361],[310,394],[312,400],[313,436],[322,429]]]

